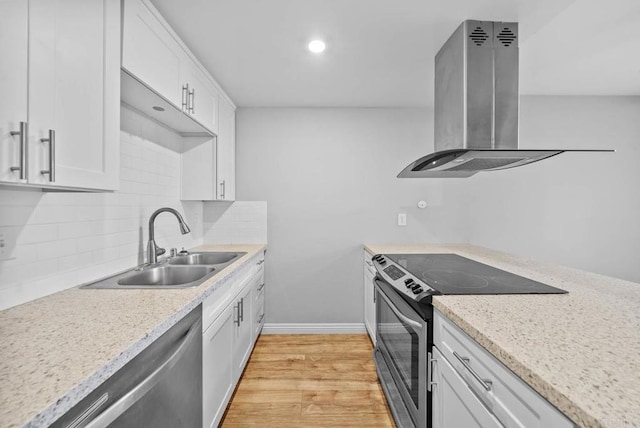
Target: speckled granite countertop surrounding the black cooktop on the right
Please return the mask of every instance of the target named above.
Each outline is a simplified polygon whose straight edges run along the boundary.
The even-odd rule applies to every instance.
[[[455,253],[567,290],[433,305],[579,426],[640,427],[640,284],[465,244],[365,250]]]

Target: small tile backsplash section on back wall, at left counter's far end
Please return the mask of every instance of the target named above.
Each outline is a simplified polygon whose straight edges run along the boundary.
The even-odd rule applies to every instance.
[[[267,202],[205,202],[203,239],[208,244],[267,242]]]

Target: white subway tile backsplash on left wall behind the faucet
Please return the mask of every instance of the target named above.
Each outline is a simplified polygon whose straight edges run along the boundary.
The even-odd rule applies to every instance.
[[[162,247],[202,243],[202,202],[180,201],[180,136],[122,109],[120,191],[42,193],[0,188],[0,228],[16,237],[0,261],[0,309],[24,303],[143,261],[149,216],[169,206],[191,233],[161,214]]]

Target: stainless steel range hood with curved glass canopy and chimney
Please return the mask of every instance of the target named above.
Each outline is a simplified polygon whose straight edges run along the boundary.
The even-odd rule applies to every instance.
[[[435,149],[399,178],[470,177],[567,151],[518,150],[518,24],[464,21],[435,59]]]

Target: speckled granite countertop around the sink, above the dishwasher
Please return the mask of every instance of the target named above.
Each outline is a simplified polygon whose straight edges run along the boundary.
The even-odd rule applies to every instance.
[[[71,288],[0,312],[0,427],[48,426],[249,264],[264,245],[198,287]]]

